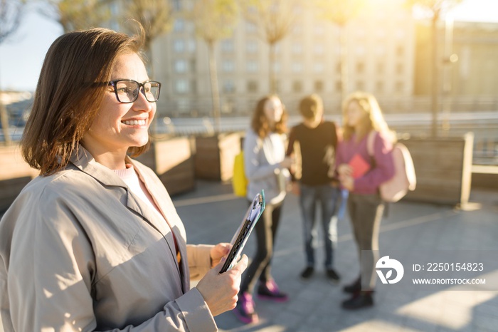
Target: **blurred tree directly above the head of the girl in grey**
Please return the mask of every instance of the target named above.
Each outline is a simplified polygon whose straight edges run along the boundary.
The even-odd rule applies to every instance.
[[[270,50],[268,79],[270,93],[277,92],[275,80],[275,46],[290,32],[304,0],[240,0],[245,20],[258,27],[260,37]]]

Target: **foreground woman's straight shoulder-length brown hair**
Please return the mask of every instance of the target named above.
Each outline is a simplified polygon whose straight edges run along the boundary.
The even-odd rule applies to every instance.
[[[140,54],[144,31],[136,36],[105,28],[65,33],[43,61],[33,108],[21,139],[24,160],[50,175],[63,169],[92,125],[118,56]],[[136,156],[149,147],[130,147]]]

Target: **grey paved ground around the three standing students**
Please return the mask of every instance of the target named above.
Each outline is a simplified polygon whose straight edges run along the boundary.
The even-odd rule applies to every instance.
[[[176,196],[174,201],[189,243],[211,244],[230,241],[246,204],[245,199],[231,194],[230,184],[207,181],[197,182],[194,192]],[[475,209],[467,211],[415,202],[391,204],[381,224],[381,254],[485,250],[480,252],[488,284],[498,282],[498,251],[494,251],[498,250],[498,191],[472,192],[471,201],[479,204],[471,204]],[[221,331],[498,331],[498,287],[493,286],[489,291],[458,291],[460,286],[430,291],[412,285],[406,291],[390,291],[388,286],[393,285],[382,285],[373,308],[342,310],[340,302],[347,296],[341,287],[359,271],[348,217],[339,222],[336,267],[342,281],[334,286],[326,281],[321,266],[311,281],[300,281],[304,253],[294,195],[287,197],[283,211],[272,271],[290,301],[273,304],[256,299],[260,322],[253,325],[243,325],[231,312],[223,313],[216,317]],[[251,238],[245,249],[248,256],[253,254],[254,244]],[[317,256],[317,261],[323,261],[322,247]]]

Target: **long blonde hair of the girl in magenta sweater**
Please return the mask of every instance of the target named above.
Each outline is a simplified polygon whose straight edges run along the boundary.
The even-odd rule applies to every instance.
[[[381,107],[377,99],[371,94],[363,91],[356,91],[348,95],[342,103],[343,136],[344,140],[349,140],[355,133],[355,128],[348,124],[348,107],[350,103],[358,103],[359,107],[366,113],[356,133],[356,140],[361,140],[371,130],[376,130],[385,135],[391,135],[386,120],[382,115]],[[394,138],[392,138],[394,140]]]

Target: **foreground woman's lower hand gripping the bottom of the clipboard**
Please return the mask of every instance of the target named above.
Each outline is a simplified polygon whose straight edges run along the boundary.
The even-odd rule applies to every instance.
[[[209,270],[196,286],[213,316],[232,310],[237,305],[240,276],[248,267],[248,256],[244,254],[233,269],[220,274],[223,262],[224,259]]]

